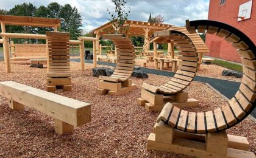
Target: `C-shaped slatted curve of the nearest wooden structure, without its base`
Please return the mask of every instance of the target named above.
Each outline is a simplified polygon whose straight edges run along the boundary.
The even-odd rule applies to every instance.
[[[206,133],[226,130],[241,122],[255,108],[256,86],[256,47],[254,43],[240,30],[216,21],[187,21],[187,29],[193,33],[196,30],[214,34],[232,44],[241,55],[243,64],[243,80],[235,97],[213,111],[188,112],[171,104],[167,104],[157,122],[163,120],[174,128],[186,132]]]

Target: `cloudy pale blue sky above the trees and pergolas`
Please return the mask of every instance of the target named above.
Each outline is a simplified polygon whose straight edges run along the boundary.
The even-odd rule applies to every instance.
[[[149,14],[152,16],[162,15],[165,24],[185,26],[185,20],[207,19],[209,0],[128,0],[126,8],[130,9],[128,19],[134,21],[148,21]],[[110,12],[115,12],[112,0],[0,0],[0,9],[9,10],[16,4],[30,2],[36,7],[48,5],[50,2],[59,4],[69,3],[77,7],[82,15],[82,29],[85,32],[96,29],[108,22]]]

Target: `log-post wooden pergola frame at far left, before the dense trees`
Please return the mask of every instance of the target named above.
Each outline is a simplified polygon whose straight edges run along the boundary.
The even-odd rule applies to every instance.
[[[0,43],[4,47],[4,62],[6,72],[11,72],[10,66],[10,53],[9,53],[9,38],[46,38],[45,35],[29,35],[29,34],[15,34],[6,33],[5,25],[10,26],[35,26],[35,27],[52,27],[54,32],[57,32],[57,28],[60,27],[60,19],[49,19],[49,18],[37,18],[29,16],[10,16],[10,15],[0,15],[1,23],[1,36]],[[43,37],[41,37],[43,36]]]

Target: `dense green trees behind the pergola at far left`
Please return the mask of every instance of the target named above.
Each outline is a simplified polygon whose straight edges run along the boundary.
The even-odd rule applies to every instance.
[[[35,7],[31,3],[24,2],[23,4],[17,4],[9,11],[0,10],[0,14],[4,15],[17,15],[17,16],[34,16],[41,18],[59,18],[61,20],[60,31],[69,32],[71,40],[76,40],[82,34],[82,17],[76,7],[71,7],[69,4],[60,5],[57,2],[52,2],[47,6],[41,5]],[[15,33],[39,33],[45,34],[46,31],[52,31],[52,28],[44,27],[27,27],[27,26],[6,26],[7,32]],[[21,40],[15,39],[15,43],[23,43],[29,41],[34,43],[36,40]],[[38,40],[43,42],[45,40]]]

